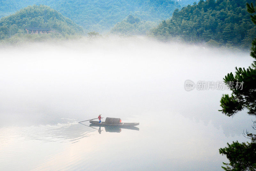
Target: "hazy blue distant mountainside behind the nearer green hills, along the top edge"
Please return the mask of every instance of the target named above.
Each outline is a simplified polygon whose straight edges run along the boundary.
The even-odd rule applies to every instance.
[[[5,0],[0,1],[0,17],[28,5],[44,4],[86,30],[106,31],[130,14],[142,20],[158,21],[169,18],[176,8],[195,1],[198,0]]]

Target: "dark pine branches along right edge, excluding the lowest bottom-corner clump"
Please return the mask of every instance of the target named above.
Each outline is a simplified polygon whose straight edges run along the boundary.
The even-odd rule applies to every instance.
[[[254,13],[255,8],[253,4],[251,7],[247,4],[248,12]],[[252,21],[256,19],[256,15],[251,15]],[[255,22],[256,24],[256,22]],[[250,55],[256,59],[256,38],[252,41]],[[256,115],[256,61],[253,61],[252,65],[248,68],[237,68],[235,74],[228,73],[224,82],[229,85],[232,90],[231,95],[225,94],[220,100],[220,106],[222,113],[227,116],[232,116],[235,113],[246,108],[248,114]],[[236,84],[229,84],[230,82],[243,82],[243,88],[237,89]]]

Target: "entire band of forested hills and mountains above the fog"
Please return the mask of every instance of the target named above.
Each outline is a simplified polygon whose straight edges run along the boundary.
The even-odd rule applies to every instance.
[[[1,1],[0,17],[28,4],[48,4],[55,10],[33,5],[2,17],[0,39],[24,33],[25,27],[51,27],[64,36],[83,30],[85,33],[110,30],[112,34],[147,34],[161,40],[248,48],[256,26],[250,21],[246,2],[252,0]],[[181,8],[184,5],[187,6]],[[161,22],[161,19],[165,20]]]

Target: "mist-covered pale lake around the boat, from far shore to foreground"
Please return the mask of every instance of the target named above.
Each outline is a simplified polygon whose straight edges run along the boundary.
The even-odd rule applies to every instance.
[[[229,90],[184,82],[222,81],[252,60],[143,37],[2,48],[0,170],[222,170],[219,148],[248,141],[253,118],[218,112]],[[78,123],[99,114],[139,130]]]

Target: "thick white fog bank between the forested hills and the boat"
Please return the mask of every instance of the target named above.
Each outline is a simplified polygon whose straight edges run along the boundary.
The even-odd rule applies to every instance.
[[[0,50],[1,125],[55,124],[98,113],[163,121],[182,115],[241,135],[252,119],[218,112],[228,90],[184,89],[185,80],[222,81],[235,66],[252,63],[248,52],[162,43],[144,37],[31,43]],[[143,120],[140,120],[143,122]]]

